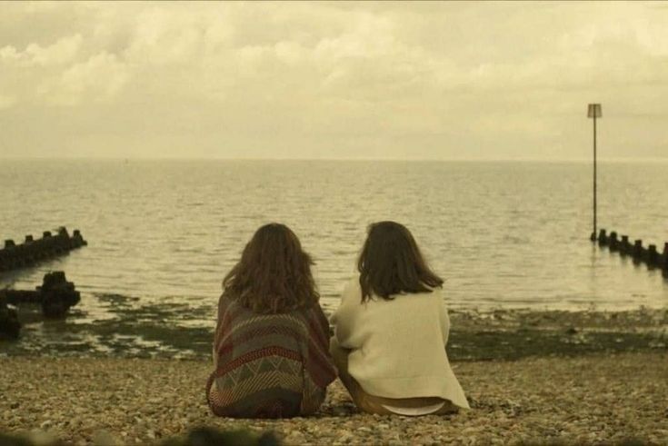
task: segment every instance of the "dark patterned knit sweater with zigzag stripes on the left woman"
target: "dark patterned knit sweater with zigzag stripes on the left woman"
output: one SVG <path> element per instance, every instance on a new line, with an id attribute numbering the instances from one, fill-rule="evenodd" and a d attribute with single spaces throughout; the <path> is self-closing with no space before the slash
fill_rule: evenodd
<path id="1" fill-rule="evenodd" d="M 336 378 L 320 305 L 259 314 L 221 296 L 206 396 L 214 414 L 288 418 L 317 411 Z"/>

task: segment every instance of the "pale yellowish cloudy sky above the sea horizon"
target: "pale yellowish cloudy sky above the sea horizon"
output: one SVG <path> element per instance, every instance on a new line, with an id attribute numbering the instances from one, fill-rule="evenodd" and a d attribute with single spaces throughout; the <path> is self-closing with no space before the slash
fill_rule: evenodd
<path id="1" fill-rule="evenodd" d="M 0 4 L 0 158 L 668 159 L 668 3 Z"/>

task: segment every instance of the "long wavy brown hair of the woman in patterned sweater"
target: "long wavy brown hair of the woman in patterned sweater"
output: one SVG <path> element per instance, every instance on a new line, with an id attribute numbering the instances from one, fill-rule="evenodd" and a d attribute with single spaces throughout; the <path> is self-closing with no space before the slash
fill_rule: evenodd
<path id="1" fill-rule="evenodd" d="M 320 299 L 311 274 L 313 264 L 290 228 L 281 223 L 265 224 L 225 276 L 223 296 L 260 313 L 311 307 Z"/>

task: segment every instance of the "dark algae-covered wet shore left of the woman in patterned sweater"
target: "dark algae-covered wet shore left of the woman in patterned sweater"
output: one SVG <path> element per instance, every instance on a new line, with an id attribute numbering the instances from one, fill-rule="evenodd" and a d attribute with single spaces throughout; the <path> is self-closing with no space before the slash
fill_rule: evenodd
<path id="1" fill-rule="evenodd" d="M 138 298 L 117 294 L 99 300 L 108 314 L 95 320 L 75 310 L 64 320 L 45 321 L 36 309 L 21 308 L 21 338 L 0 344 L 0 353 L 195 358 L 211 352 L 214 327 L 188 326 L 210 318 L 203 309 L 184 303 L 136 306 Z"/>

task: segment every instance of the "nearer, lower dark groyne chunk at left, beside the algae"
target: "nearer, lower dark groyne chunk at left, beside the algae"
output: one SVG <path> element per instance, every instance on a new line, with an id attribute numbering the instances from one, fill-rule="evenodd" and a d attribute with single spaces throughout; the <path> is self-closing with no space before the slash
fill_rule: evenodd
<path id="1" fill-rule="evenodd" d="M 81 293 L 65 273 L 46 273 L 41 286 L 32 290 L 0 290 L 0 339 L 15 339 L 21 330 L 17 312 L 8 305 L 39 305 L 45 318 L 63 318 L 69 309 L 81 301 Z"/>

